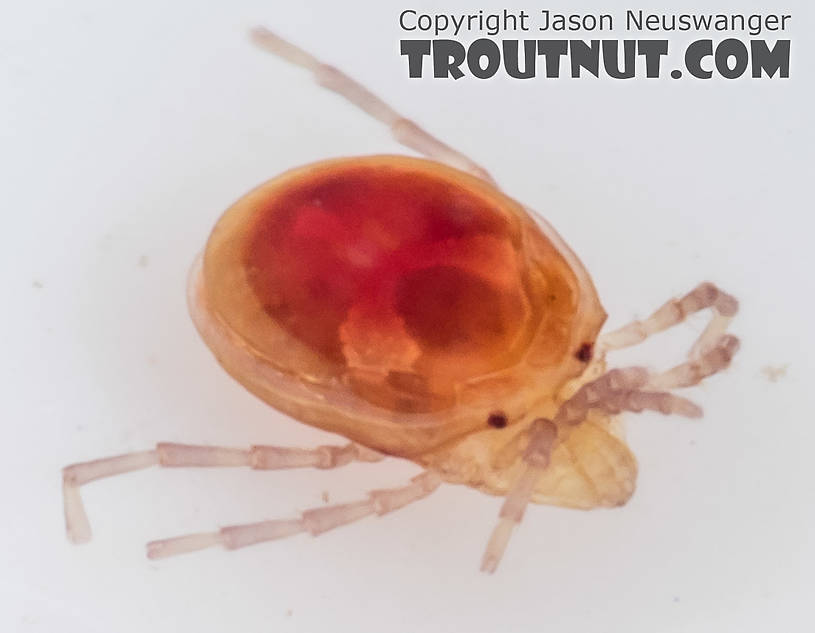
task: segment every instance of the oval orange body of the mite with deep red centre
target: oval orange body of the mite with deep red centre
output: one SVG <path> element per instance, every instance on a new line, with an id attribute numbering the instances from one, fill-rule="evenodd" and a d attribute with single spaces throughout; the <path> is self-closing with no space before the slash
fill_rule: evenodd
<path id="1" fill-rule="evenodd" d="M 574 256 L 520 204 L 399 156 L 262 185 L 218 222 L 198 274 L 193 316 L 233 376 L 406 457 L 551 400 L 585 370 L 578 352 L 605 317 Z"/>

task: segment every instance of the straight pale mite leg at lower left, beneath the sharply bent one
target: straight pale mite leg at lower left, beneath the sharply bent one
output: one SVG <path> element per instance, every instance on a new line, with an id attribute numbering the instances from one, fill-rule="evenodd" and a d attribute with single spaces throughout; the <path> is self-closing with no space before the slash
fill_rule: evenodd
<path id="1" fill-rule="evenodd" d="M 152 541 L 147 544 L 148 558 L 166 558 L 221 545 L 238 549 L 266 541 L 274 541 L 300 532 L 317 536 L 341 525 L 348 525 L 372 514 L 382 515 L 423 499 L 439 487 L 441 479 L 432 471 L 425 471 L 401 488 L 374 490 L 368 499 L 306 510 L 297 519 L 261 521 L 221 528 L 216 532 L 187 534 Z"/>

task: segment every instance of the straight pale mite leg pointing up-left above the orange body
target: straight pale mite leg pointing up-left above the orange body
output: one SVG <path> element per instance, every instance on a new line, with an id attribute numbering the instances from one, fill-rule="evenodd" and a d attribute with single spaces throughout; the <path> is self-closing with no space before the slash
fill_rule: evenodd
<path id="1" fill-rule="evenodd" d="M 351 79 L 342 71 L 322 63 L 310 53 L 278 37 L 268 29 L 257 27 L 251 31 L 252 40 L 264 50 L 286 61 L 302 66 L 314 74 L 324 88 L 336 92 L 364 110 L 367 114 L 388 126 L 393 137 L 402 145 L 439 162 L 469 172 L 478 178 L 495 184 L 489 173 L 470 158 L 442 143 L 413 121 L 406 119 L 367 88 Z"/>

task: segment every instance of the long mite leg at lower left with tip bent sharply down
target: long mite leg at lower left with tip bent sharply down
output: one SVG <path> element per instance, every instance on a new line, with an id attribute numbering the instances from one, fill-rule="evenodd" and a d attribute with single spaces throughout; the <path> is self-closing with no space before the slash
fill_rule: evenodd
<path id="1" fill-rule="evenodd" d="M 66 466 L 62 470 L 65 527 L 74 543 L 91 538 L 88 515 L 79 488 L 86 483 L 150 466 L 248 466 L 257 470 L 284 468 L 337 468 L 352 461 L 374 462 L 382 459 L 376 451 L 358 444 L 320 446 L 315 449 L 252 446 L 249 449 L 189 444 L 157 444 L 152 451 L 127 453 Z"/>

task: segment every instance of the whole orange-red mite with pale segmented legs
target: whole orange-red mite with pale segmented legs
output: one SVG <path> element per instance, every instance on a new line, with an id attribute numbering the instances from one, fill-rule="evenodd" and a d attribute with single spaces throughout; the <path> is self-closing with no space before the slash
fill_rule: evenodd
<path id="1" fill-rule="evenodd" d="M 637 465 L 617 414 L 699 417 L 674 390 L 726 368 L 738 303 L 711 283 L 600 333 L 591 278 L 549 224 L 490 175 L 336 68 L 265 29 L 254 41 L 387 125 L 424 158 L 367 156 L 286 172 L 235 203 L 193 266 L 192 319 L 218 362 L 274 408 L 343 446 L 160 443 L 63 471 L 70 540 L 90 539 L 83 484 L 150 466 L 338 468 L 385 456 L 403 487 L 300 517 L 153 541 L 160 558 L 313 535 L 463 484 L 505 501 L 481 568 L 496 569 L 529 502 L 624 504 Z M 608 370 L 608 352 L 708 310 L 686 359 Z"/>

